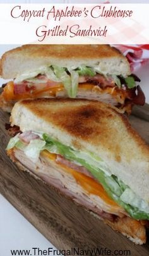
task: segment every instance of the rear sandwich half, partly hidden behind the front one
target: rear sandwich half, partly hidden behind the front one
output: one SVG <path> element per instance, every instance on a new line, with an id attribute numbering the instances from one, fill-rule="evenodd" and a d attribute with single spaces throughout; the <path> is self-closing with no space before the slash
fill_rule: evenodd
<path id="1" fill-rule="evenodd" d="M 10 112 L 20 99 L 86 98 L 121 112 L 143 105 L 145 96 L 128 60 L 109 45 L 25 45 L 3 54 L 0 106 Z"/>

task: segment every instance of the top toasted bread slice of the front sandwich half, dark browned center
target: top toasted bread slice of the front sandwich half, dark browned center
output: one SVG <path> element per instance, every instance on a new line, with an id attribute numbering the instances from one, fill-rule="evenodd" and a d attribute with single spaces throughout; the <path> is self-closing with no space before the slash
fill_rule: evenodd
<path id="1" fill-rule="evenodd" d="M 20 101 L 10 120 L 23 132 L 46 132 L 76 150 L 95 153 L 112 174 L 149 202 L 149 147 L 109 105 L 85 99 Z"/>

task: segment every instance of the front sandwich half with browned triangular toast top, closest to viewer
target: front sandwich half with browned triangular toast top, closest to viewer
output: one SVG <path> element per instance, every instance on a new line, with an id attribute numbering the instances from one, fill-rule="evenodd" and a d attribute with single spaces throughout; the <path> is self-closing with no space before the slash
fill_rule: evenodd
<path id="1" fill-rule="evenodd" d="M 149 148 L 126 117 L 98 101 L 35 99 L 16 103 L 10 121 L 13 162 L 145 243 Z"/>

